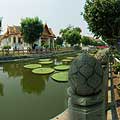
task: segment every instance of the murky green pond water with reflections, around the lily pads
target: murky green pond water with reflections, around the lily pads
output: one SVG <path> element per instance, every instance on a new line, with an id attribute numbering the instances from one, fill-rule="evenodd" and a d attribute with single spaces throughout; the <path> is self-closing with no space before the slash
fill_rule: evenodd
<path id="1" fill-rule="evenodd" d="M 49 120 L 67 108 L 68 83 L 33 74 L 29 63 L 38 61 L 0 64 L 0 120 Z"/>

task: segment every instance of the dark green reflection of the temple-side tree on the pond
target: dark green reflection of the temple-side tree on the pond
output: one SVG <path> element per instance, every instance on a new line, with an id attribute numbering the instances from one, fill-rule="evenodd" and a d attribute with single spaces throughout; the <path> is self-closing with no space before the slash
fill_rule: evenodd
<path id="1" fill-rule="evenodd" d="M 29 69 L 23 70 L 23 79 L 21 80 L 21 86 L 24 92 L 28 94 L 41 94 L 45 89 L 46 80 L 49 76 L 35 75 Z"/>

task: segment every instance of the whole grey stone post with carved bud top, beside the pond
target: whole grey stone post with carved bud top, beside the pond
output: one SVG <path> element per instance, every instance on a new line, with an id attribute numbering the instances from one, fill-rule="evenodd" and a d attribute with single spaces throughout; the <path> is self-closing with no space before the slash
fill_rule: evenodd
<path id="1" fill-rule="evenodd" d="M 69 71 L 69 120 L 105 120 L 101 63 L 83 53 Z"/>

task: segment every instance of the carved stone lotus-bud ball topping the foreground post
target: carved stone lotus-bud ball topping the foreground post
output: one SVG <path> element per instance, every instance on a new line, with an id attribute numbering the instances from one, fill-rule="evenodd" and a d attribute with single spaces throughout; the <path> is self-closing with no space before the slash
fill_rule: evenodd
<path id="1" fill-rule="evenodd" d="M 77 95 L 93 95 L 102 90 L 101 63 L 87 53 L 82 53 L 71 64 L 68 74 L 72 91 Z"/>

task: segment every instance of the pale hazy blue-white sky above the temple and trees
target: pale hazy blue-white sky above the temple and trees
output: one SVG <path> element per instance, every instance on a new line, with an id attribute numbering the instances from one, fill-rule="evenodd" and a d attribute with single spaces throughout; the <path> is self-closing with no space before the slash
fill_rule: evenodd
<path id="1" fill-rule="evenodd" d="M 8 25 L 20 25 L 21 18 L 38 16 L 56 36 L 68 25 L 80 27 L 82 35 L 91 35 L 80 15 L 84 4 L 85 0 L 1 0 L 3 32 Z"/>

